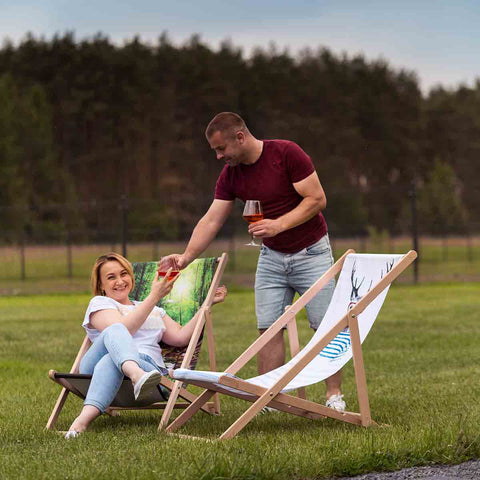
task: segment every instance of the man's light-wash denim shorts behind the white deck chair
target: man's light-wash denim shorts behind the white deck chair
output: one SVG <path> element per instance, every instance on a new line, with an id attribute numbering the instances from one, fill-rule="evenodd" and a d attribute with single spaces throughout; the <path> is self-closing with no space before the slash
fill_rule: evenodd
<path id="1" fill-rule="evenodd" d="M 255 311 L 259 329 L 266 329 L 291 305 L 295 292 L 302 295 L 333 265 L 328 234 L 295 253 L 262 246 L 255 276 Z M 306 305 L 308 322 L 318 328 L 335 289 L 331 280 Z"/>

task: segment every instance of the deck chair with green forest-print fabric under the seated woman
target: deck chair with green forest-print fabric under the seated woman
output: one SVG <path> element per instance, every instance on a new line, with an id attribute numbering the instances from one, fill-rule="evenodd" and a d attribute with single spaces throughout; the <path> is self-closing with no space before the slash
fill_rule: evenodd
<path id="1" fill-rule="evenodd" d="M 182 270 L 182 274 L 176 281 L 169 298 L 163 298 L 159 302 L 158 305 L 164 308 L 181 325 L 188 323 L 195 314 L 201 317 L 187 347 L 172 347 L 161 343 L 162 354 L 168 368 L 195 368 L 205 330 L 208 343 L 209 367 L 212 370 L 216 369 L 211 306 L 215 291 L 225 270 L 227 258 L 227 254 L 223 253 L 219 258 L 195 260 Z M 135 288 L 130 294 L 132 300 L 143 300 L 148 295 L 156 270 L 156 262 L 133 264 Z M 70 392 L 85 399 L 92 376 L 79 374 L 78 369 L 80 361 L 88 350 L 90 343 L 88 337 L 85 336 L 70 373 L 59 373 L 55 370 L 50 370 L 50 379 L 60 384 L 63 388 L 48 419 L 47 429 L 52 429 L 56 424 Z M 180 381 L 172 382 L 168 378 L 163 377 L 161 385 L 164 388 L 159 387 L 145 401 L 138 402 L 133 395 L 132 382 L 129 378 L 124 378 L 120 390 L 106 413 L 115 415 L 118 410 L 163 409 L 159 429 L 164 428 L 168 424 L 173 409 L 186 408 L 195 400 L 196 396 L 186 390 Z M 179 397 L 184 401 L 178 401 Z M 205 407 L 203 410 L 208 413 L 220 413 L 218 396 L 202 405 L 202 407 Z"/>

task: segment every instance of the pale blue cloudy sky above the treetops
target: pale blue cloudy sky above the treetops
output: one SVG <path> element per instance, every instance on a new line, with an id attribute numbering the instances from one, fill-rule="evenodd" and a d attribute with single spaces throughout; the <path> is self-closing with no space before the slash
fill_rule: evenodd
<path id="1" fill-rule="evenodd" d="M 193 34 L 248 56 L 273 42 L 291 55 L 309 47 L 383 59 L 414 71 L 427 93 L 480 79 L 480 0 L 0 0 L 0 39 L 98 32 L 122 44 L 162 32 L 181 45 Z"/>

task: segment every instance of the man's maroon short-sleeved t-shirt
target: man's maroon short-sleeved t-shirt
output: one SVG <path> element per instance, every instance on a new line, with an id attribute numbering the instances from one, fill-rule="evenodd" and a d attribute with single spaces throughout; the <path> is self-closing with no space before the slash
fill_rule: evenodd
<path id="1" fill-rule="evenodd" d="M 303 199 L 294 183 L 315 171 L 311 158 L 288 140 L 263 140 L 260 158 L 252 165 L 225 165 L 217 180 L 218 200 L 260 200 L 265 218 L 275 219 L 293 210 Z M 273 250 L 293 253 L 317 242 L 327 232 L 321 213 L 301 225 L 264 238 Z"/>

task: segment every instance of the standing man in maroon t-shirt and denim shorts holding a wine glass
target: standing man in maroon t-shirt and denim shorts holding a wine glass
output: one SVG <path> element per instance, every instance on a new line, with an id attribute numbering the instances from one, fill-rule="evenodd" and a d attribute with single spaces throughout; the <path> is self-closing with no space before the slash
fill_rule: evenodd
<path id="1" fill-rule="evenodd" d="M 288 140 L 258 140 L 243 119 L 231 112 L 216 115 L 205 131 L 224 166 L 215 198 L 197 223 L 183 254 L 164 257 L 159 265 L 184 268 L 215 238 L 232 211 L 235 198 L 260 200 L 264 220 L 248 231 L 263 240 L 255 277 L 255 307 L 260 335 L 333 263 L 327 225 L 320 213 L 327 204 L 310 157 Z M 334 289 L 330 282 L 306 307 L 316 330 Z M 260 374 L 285 363 L 283 331 L 258 355 Z M 326 380 L 327 406 L 345 410 L 341 372 Z"/>

